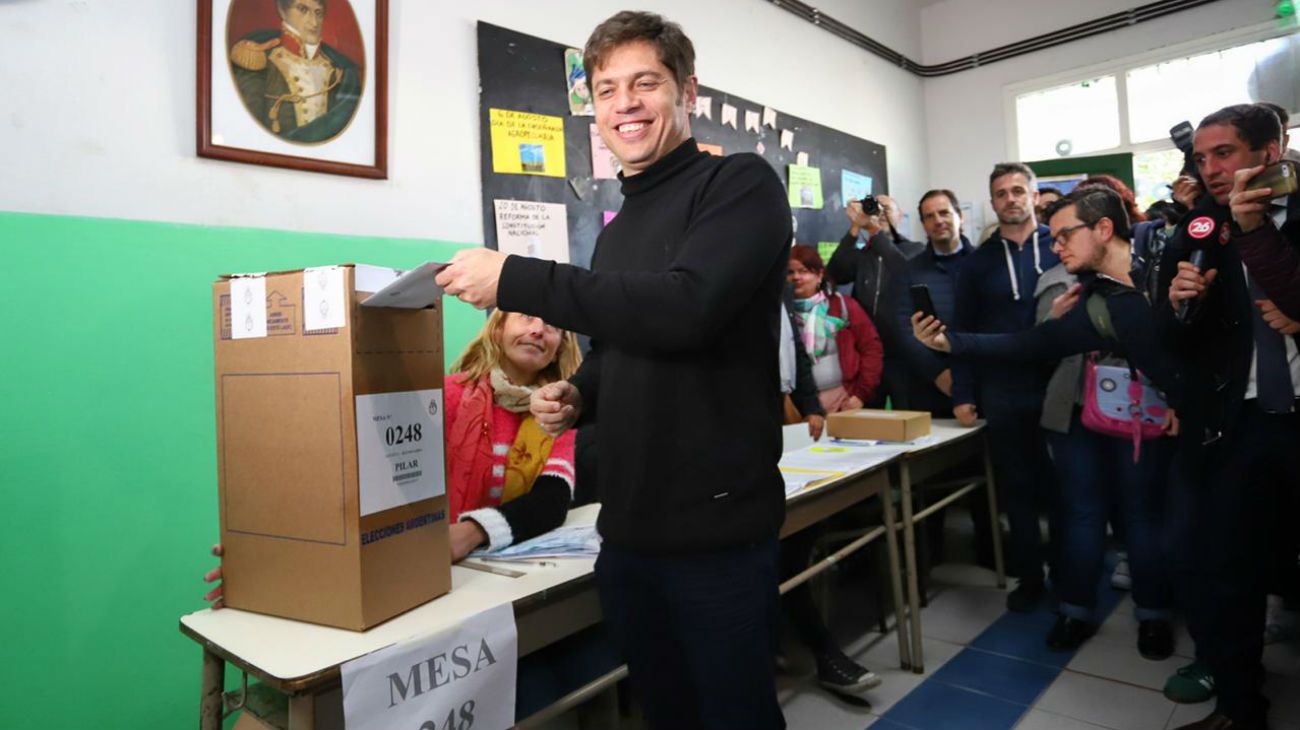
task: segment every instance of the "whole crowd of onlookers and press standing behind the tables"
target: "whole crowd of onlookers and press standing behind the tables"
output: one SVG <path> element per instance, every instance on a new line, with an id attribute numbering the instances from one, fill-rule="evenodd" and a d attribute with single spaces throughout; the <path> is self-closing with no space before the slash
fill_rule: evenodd
<path id="1" fill-rule="evenodd" d="M 1262 727 L 1262 646 L 1297 636 L 1300 220 L 1295 195 L 1251 186 L 1288 153 L 1287 122 L 1273 104 L 1205 117 L 1173 199 L 1147 210 L 1113 175 L 1062 194 L 1009 162 L 989 175 L 997 226 L 978 245 L 957 195 L 931 190 L 924 244 L 880 196 L 848 204 L 826 266 L 790 253 L 786 357 L 811 368 L 788 370 L 811 386 L 783 383 L 786 422 L 818 438 L 827 412 L 887 399 L 983 418 L 1018 578 L 1008 609 L 1052 600 L 1044 640 L 1076 649 L 1104 618 L 1109 542 L 1138 652 L 1170 657 L 1175 617 L 1188 623 L 1196 660 L 1165 694 L 1218 698 L 1199 729 Z M 916 287 L 933 310 L 916 310 Z M 797 397 L 814 387 L 819 400 Z M 1000 538 L 976 539 L 991 564 Z"/>

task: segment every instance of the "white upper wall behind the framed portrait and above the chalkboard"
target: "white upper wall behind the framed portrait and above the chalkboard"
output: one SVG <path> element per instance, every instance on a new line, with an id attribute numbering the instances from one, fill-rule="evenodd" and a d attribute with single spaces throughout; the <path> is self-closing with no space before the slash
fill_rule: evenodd
<path id="1" fill-rule="evenodd" d="M 391 1 L 389 179 L 365 181 L 195 156 L 195 6 L 0 3 L 0 210 L 481 242 L 476 21 L 581 44 L 619 9 Z M 924 190 L 920 79 L 759 0 L 636 6 L 685 27 L 702 83 L 881 143 L 890 188 Z M 822 8 L 920 48 L 907 0 Z"/>

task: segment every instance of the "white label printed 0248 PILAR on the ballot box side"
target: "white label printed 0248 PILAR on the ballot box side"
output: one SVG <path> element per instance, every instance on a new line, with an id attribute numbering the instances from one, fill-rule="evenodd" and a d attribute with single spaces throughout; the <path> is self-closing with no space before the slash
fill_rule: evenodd
<path id="1" fill-rule="evenodd" d="M 446 494 L 442 391 L 356 396 L 361 516 Z"/>

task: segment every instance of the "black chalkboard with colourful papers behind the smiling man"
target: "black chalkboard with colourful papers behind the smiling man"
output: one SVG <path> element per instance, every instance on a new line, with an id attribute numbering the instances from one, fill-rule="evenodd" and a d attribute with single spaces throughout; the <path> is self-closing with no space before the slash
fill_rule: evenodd
<path id="1" fill-rule="evenodd" d="M 564 75 L 566 45 L 517 31 L 478 23 L 478 87 L 482 166 L 484 236 L 489 248 L 497 248 L 494 200 L 529 200 L 563 203 L 567 207 L 569 261 L 586 266 L 592 261 L 595 238 L 604 226 L 603 213 L 623 207 L 623 194 L 616 179 L 592 178 L 590 125 L 594 117 L 571 116 Z M 693 117 L 692 132 L 701 144 L 716 144 L 725 153 L 758 152 L 772 164 L 783 181 L 786 166 L 800 152 L 807 152 L 809 165 L 820 169 L 823 208 L 794 209 L 794 239 L 816 245 L 837 242 L 848 230 L 844 201 L 840 199 L 841 171 L 850 170 L 872 179 L 872 192 L 889 192 L 885 148 L 807 120 L 776 113 L 776 129 L 760 126 L 758 132 L 745 130 L 745 112 L 759 113 L 763 105 L 706 86 L 699 95 L 712 99 L 712 118 Z M 737 109 L 736 127 L 723 126 L 722 108 Z M 533 174 L 498 174 L 493 171 L 490 109 L 528 112 L 563 117 L 566 177 Z M 793 148 L 780 144 L 781 131 L 793 132 Z"/>

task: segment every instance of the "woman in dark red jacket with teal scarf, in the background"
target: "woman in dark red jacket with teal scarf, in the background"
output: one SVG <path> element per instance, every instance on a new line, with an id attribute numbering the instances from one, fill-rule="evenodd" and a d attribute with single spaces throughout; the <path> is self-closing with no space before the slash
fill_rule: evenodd
<path id="1" fill-rule="evenodd" d="M 827 413 L 853 410 L 880 387 L 884 348 L 871 318 L 853 299 L 836 294 L 811 245 L 790 248 L 794 317 L 812 359 L 812 379 Z"/>

